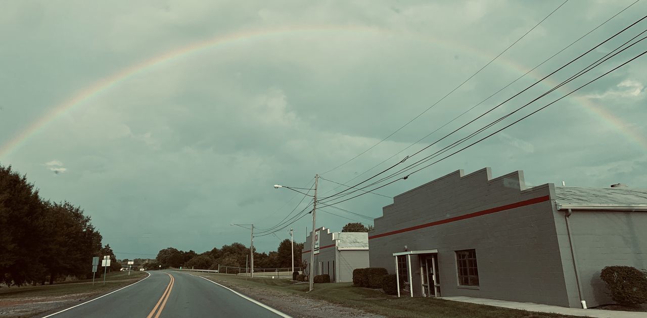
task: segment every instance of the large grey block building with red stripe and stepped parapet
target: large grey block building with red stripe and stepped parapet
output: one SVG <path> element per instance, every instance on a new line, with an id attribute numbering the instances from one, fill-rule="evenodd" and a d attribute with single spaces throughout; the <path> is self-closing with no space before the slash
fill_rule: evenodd
<path id="1" fill-rule="evenodd" d="M 400 295 L 468 296 L 571 308 L 613 303 L 605 266 L 647 268 L 647 190 L 527 187 L 490 168 L 393 198 L 369 233 L 371 267 Z"/>

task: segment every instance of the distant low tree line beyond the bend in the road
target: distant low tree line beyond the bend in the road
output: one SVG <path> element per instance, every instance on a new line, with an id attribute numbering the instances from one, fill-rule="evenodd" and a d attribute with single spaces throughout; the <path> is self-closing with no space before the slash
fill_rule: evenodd
<path id="1" fill-rule="evenodd" d="M 294 242 L 294 267 L 303 267 L 301 252 L 303 243 Z M 157 254 L 155 263 L 144 264 L 147 269 L 184 267 L 194 269 L 218 269 L 218 266 L 246 267 L 249 247 L 241 243 L 214 247 L 211 251 L 197 254 L 194 251 L 179 251 L 173 247 L 162 249 Z M 160 267 L 161 266 L 161 267 Z M 258 253 L 254 251 L 254 268 L 287 268 L 292 267 L 291 242 L 281 241 L 276 251 Z"/>

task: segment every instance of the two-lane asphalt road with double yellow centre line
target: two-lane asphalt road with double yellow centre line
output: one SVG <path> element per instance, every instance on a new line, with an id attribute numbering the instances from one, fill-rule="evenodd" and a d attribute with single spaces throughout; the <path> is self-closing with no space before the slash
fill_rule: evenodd
<path id="1" fill-rule="evenodd" d="M 189 273 L 148 273 L 127 288 L 45 317 L 288 317 Z"/>

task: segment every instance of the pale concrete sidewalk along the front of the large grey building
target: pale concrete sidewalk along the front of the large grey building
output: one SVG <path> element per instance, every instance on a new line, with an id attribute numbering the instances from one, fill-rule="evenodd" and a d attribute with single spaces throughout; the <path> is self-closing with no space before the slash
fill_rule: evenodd
<path id="1" fill-rule="evenodd" d="M 498 301 L 495 299 L 463 297 L 463 296 L 439 297 L 439 298 L 446 299 L 448 301 L 472 302 L 472 304 L 482 304 L 482 305 L 488 305 L 488 306 L 527 310 L 529 312 L 560 313 L 562 315 L 573 315 L 573 316 L 582 316 L 582 317 L 598 317 L 598 318 L 646 318 L 647 317 L 647 312 L 617 312 L 614 310 L 565 308 L 560 306 L 534 304 L 532 302 Z"/>

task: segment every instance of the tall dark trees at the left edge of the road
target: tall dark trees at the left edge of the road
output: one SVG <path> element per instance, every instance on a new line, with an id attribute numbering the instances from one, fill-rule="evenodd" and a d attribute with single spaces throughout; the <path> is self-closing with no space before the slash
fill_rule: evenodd
<path id="1" fill-rule="evenodd" d="M 91 277 L 93 256 L 110 255 L 111 269 L 120 268 L 81 207 L 45 200 L 38 192 L 27 176 L 0 165 L 0 283 Z"/>

